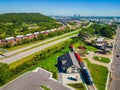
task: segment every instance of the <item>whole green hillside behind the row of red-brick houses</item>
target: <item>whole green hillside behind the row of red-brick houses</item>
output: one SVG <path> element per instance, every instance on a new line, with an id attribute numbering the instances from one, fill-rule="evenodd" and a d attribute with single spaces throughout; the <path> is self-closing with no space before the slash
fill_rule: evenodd
<path id="1" fill-rule="evenodd" d="M 0 39 L 60 27 L 56 20 L 40 13 L 0 14 Z"/>

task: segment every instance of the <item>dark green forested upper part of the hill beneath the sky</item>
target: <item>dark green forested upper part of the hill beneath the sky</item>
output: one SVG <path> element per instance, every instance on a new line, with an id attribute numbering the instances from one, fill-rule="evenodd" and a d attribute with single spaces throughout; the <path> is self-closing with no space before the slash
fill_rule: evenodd
<path id="1" fill-rule="evenodd" d="M 8 23 L 39 23 L 39 22 L 56 22 L 56 20 L 44 16 L 40 13 L 7 13 L 0 15 L 0 22 Z"/>

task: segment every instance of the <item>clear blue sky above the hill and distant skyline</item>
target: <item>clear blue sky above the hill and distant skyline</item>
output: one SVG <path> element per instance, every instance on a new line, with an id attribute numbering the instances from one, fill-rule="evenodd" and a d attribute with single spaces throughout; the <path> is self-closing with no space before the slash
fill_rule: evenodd
<path id="1" fill-rule="evenodd" d="M 61 16 L 120 16 L 120 0 L 0 0 L 0 14 L 19 12 Z"/>

